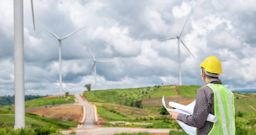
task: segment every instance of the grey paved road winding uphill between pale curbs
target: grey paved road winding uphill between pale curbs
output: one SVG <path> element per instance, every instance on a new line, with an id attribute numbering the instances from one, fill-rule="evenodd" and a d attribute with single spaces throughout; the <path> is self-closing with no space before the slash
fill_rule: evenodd
<path id="1" fill-rule="evenodd" d="M 88 129 L 88 128 L 94 128 L 95 124 L 95 117 L 94 117 L 94 107 L 92 104 L 86 103 L 83 101 L 83 99 L 80 97 L 80 95 L 75 94 L 74 95 L 78 101 L 79 104 L 82 104 L 85 107 L 85 122 L 81 129 Z"/>

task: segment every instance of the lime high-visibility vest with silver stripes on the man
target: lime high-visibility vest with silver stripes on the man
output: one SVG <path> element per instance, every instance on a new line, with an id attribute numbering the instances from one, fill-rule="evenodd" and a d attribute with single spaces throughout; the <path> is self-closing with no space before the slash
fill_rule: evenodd
<path id="1" fill-rule="evenodd" d="M 213 124 L 213 127 L 208 134 L 235 134 L 235 108 L 233 93 L 220 84 L 208 84 L 206 86 L 211 88 L 214 92 L 214 115 L 217 117 L 217 122 Z"/>

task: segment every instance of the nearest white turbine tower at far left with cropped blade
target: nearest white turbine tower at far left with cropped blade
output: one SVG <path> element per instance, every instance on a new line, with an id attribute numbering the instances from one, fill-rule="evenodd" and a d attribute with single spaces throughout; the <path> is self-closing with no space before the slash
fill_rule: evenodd
<path id="1" fill-rule="evenodd" d="M 31 0 L 33 25 L 35 19 L 33 0 Z M 25 128 L 25 93 L 24 93 L 24 25 L 23 25 L 23 0 L 13 2 L 14 13 L 14 52 L 19 55 L 14 58 L 14 95 L 15 95 L 15 129 Z"/>

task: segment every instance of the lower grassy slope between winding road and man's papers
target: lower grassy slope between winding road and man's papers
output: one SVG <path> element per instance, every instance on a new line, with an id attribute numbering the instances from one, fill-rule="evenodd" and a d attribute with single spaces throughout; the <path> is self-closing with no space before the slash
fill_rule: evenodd
<path id="1" fill-rule="evenodd" d="M 169 115 L 160 115 L 159 111 L 140 109 L 112 103 L 92 102 L 98 108 L 98 114 L 106 121 L 102 124 L 107 127 L 142 127 L 142 128 L 180 128 L 172 121 Z M 125 121 L 131 125 L 110 124 L 113 121 Z"/>

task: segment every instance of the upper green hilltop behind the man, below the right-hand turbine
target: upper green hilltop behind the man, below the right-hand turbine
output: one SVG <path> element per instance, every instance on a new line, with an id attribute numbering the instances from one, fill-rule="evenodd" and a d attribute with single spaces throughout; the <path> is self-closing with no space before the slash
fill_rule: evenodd
<path id="1" fill-rule="evenodd" d="M 177 92 L 175 88 L 177 87 Z M 144 88 L 128 88 L 128 89 L 109 89 L 97 90 L 84 93 L 83 96 L 88 101 L 115 103 L 130 106 L 135 100 L 143 100 L 143 106 L 162 107 L 162 97 L 165 96 L 167 101 L 181 102 L 193 100 L 196 97 L 197 89 L 201 86 L 197 85 L 164 85 Z M 252 113 L 256 110 L 256 95 L 250 93 L 234 93 L 235 111 Z M 238 98 L 237 98 L 238 97 Z"/>

